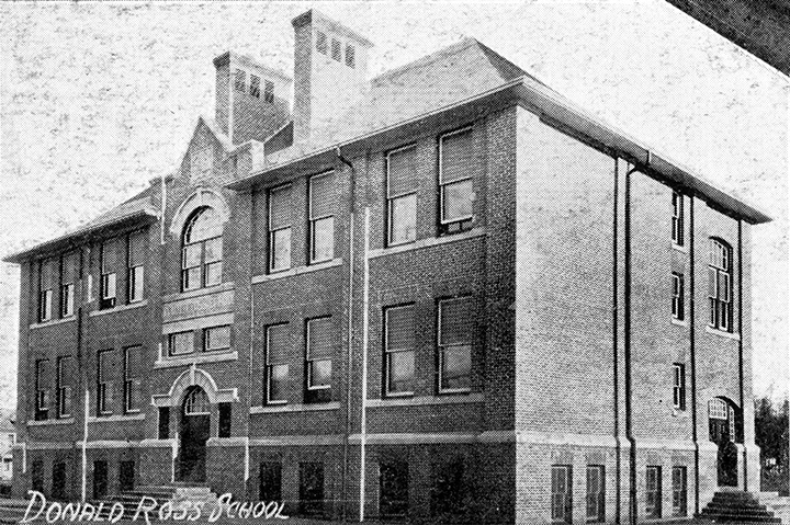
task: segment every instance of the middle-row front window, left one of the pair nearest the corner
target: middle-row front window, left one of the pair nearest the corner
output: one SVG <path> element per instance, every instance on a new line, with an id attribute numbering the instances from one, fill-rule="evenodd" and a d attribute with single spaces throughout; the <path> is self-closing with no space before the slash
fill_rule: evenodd
<path id="1" fill-rule="evenodd" d="M 414 305 L 384 310 L 384 395 L 414 393 Z"/>

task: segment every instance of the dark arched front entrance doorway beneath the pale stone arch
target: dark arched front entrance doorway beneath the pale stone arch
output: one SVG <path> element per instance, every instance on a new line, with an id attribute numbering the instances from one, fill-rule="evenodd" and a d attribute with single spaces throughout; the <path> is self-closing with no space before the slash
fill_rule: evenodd
<path id="1" fill-rule="evenodd" d="M 211 429 L 211 402 L 199 386 L 187 389 L 181 403 L 178 481 L 205 481 L 205 446 Z"/>

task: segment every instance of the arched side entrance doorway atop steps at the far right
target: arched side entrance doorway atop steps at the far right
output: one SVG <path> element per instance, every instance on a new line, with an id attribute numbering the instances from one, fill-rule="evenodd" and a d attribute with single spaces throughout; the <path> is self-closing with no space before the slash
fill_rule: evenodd
<path id="1" fill-rule="evenodd" d="M 710 441 L 719 446 L 716 472 L 720 487 L 737 487 L 737 446 L 740 410 L 724 398 L 708 401 Z"/>

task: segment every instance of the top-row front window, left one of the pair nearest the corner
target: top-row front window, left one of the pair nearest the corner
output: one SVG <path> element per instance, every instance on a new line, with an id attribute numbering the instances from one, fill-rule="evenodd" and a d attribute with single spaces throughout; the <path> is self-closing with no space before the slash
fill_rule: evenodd
<path id="1" fill-rule="evenodd" d="M 417 148 L 387 153 L 387 244 L 417 239 Z"/>

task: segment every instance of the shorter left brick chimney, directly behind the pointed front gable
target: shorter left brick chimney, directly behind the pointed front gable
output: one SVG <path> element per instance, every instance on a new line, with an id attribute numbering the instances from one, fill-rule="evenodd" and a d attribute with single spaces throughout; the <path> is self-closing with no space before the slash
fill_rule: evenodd
<path id="1" fill-rule="evenodd" d="M 227 52 L 214 59 L 215 119 L 233 144 L 263 141 L 291 117 L 291 79 L 246 55 Z"/>

